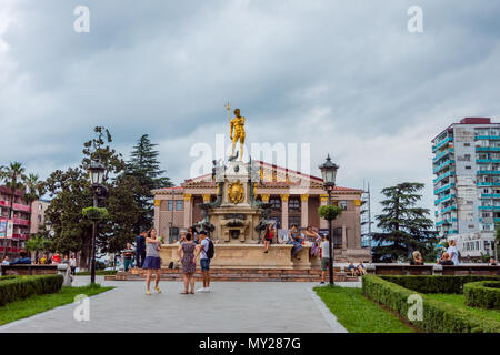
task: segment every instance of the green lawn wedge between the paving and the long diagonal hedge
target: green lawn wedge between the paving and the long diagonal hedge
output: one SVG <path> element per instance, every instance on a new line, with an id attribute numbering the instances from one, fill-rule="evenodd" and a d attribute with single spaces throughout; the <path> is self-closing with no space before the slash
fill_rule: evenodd
<path id="1" fill-rule="evenodd" d="M 398 316 L 363 296 L 361 288 L 314 287 L 349 333 L 414 333 Z"/>

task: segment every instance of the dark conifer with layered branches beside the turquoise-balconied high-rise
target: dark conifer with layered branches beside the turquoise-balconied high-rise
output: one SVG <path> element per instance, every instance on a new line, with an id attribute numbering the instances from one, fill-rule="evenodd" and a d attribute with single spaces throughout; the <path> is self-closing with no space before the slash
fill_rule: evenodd
<path id="1" fill-rule="evenodd" d="M 382 190 L 386 196 L 381 202 L 383 213 L 376 216 L 382 232 L 373 233 L 377 243 L 372 248 L 374 262 L 409 260 L 413 251 L 420 251 L 424 260 L 436 256 L 437 232 L 428 217 L 429 210 L 416 206 L 422 197 L 418 192 L 423 186 L 403 182 Z"/>

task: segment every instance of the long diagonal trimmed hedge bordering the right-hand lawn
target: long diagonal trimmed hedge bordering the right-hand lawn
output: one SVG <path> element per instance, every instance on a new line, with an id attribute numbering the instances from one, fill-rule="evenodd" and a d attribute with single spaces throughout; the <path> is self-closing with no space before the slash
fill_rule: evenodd
<path id="1" fill-rule="evenodd" d="M 410 276 L 408 276 L 410 277 Z M 364 275 L 363 294 L 397 312 L 408 320 L 408 311 L 413 303 L 408 297 L 416 292 L 378 276 Z M 449 303 L 430 300 L 423 294 L 422 321 L 412 321 L 416 327 L 428 333 L 500 333 L 500 322 L 458 308 Z"/>

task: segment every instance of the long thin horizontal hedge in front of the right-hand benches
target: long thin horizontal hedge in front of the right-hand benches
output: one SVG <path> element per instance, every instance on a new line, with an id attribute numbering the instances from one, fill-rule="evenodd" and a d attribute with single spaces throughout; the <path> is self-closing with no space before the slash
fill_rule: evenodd
<path id="1" fill-rule="evenodd" d="M 491 275 L 380 275 L 379 277 L 420 293 L 463 293 L 463 285 L 477 281 L 500 281 Z"/>

